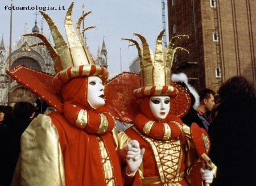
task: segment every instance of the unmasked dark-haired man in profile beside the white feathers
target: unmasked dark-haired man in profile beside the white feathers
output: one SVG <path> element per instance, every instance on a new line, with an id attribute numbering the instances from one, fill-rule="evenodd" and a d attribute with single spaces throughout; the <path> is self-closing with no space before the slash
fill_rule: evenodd
<path id="1" fill-rule="evenodd" d="M 196 108 L 197 116 L 202 121 L 201 123 L 198 123 L 201 128 L 204 128 L 208 131 L 209 128 L 209 120 L 206 116 L 207 112 L 212 111 L 215 103 L 214 103 L 214 95 L 216 93 L 209 89 L 209 88 L 203 88 L 199 91 L 199 98 L 200 98 L 200 104 Z"/>

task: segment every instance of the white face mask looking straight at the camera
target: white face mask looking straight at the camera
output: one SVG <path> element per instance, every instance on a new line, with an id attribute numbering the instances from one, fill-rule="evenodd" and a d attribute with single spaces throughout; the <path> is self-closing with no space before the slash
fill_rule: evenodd
<path id="1" fill-rule="evenodd" d="M 150 109 L 158 120 L 166 118 L 170 111 L 170 97 L 169 96 L 151 96 Z"/>

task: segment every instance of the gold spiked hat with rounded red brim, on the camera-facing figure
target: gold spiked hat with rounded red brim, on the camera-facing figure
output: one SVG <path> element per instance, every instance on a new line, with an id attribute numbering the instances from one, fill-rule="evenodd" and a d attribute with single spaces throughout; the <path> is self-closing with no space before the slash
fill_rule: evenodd
<path id="1" fill-rule="evenodd" d="M 191 105 L 191 98 L 188 92 L 179 84 L 171 82 L 171 67 L 174 54 L 177 49 L 188 50 L 177 47 L 174 44 L 176 39 L 188 37 L 179 35 L 172 37 L 167 49 L 163 49 L 162 37 L 165 30 L 160 32 L 156 39 L 155 56 L 147 44 L 147 40 L 140 34 L 134 33 L 142 41 L 142 46 L 133 39 L 123 39 L 131 41 L 138 49 L 140 63 L 140 87 L 133 91 L 133 95 L 141 99 L 143 96 L 167 95 L 171 98 L 171 113 L 182 117 L 188 112 Z"/>

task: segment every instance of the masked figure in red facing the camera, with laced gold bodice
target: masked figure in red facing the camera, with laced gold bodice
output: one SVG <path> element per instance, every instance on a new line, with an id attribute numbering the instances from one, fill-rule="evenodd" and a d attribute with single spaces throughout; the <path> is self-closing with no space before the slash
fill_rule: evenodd
<path id="1" fill-rule="evenodd" d="M 141 66 L 141 87 L 134 90 L 136 98 L 141 99 L 141 113 L 135 117 L 134 126 L 125 133 L 138 140 L 145 149 L 143 159 L 142 185 L 203 185 L 212 183 L 213 171 L 204 170 L 201 164 L 198 167 L 196 150 L 190 137 L 190 128 L 184 125 L 179 117 L 170 113 L 174 106 L 182 109 L 189 108 L 187 100 L 179 94 L 187 94 L 184 90 L 177 89 L 177 84 L 171 82 L 171 66 L 176 49 L 173 41 L 182 38 L 177 36 L 171 39 L 167 50 L 162 48 L 162 36 L 160 32 L 156 41 L 155 58 L 147 44 L 146 39 L 137 33 L 142 41 L 139 46 L 133 39 L 125 39 L 133 42 L 138 49 Z M 176 98 L 177 97 L 177 98 Z M 180 105 L 172 105 L 172 99 L 180 99 Z M 185 111 L 181 111 L 185 112 Z M 195 184 L 195 176 L 199 177 L 200 184 Z M 197 179 L 198 180 L 198 179 Z M 198 183 L 198 182 L 197 182 Z"/>

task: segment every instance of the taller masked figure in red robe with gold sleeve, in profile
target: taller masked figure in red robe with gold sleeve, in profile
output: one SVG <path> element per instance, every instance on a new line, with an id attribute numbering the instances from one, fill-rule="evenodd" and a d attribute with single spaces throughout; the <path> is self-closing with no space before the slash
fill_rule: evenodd
<path id="1" fill-rule="evenodd" d="M 80 23 L 89 12 L 77 22 L 78 39 L 72 8 L 73 3 L 64 22 L 69 45 L 44 12 L 41 14 L 49 24 L 55 47 L 40 33 L 28 34 L 47 45 L 55 61 L 55 77 L 22 66 L 8 71 L 23 86 L 38 88 L 34 92 L 57 110 L 36 117 L 23 133 L 12 184 L 138 185 L 143 150 L 137 141 L 115 130 L 115 119 L 104 106 L 102 83 L 108 71 L 94 64 L 80 32 Z M 36 75 L 41 82 L 36 82 Z"/>

